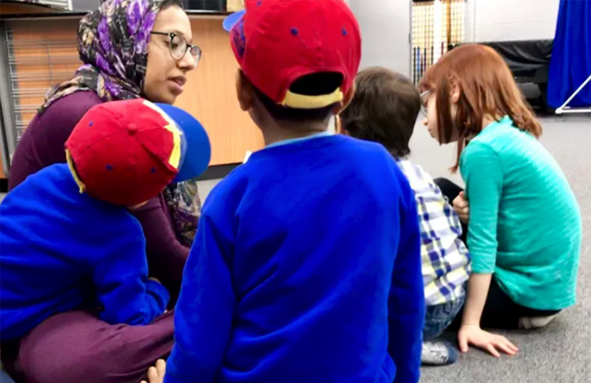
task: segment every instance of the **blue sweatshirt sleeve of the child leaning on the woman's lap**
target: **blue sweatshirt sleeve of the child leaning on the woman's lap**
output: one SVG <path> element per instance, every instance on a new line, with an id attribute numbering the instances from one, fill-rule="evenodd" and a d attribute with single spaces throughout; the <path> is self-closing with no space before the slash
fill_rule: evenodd
<path id="1" fill-rule="evenodd" d="M 129 239 L 117 247 L 118 251 L 100 259 L 93 269 L 102 306 L 99 318 L 111 324 L 151 323 L 164 313 L 168 291 L 157 281 L 148 280 L 142 241 Z"/>

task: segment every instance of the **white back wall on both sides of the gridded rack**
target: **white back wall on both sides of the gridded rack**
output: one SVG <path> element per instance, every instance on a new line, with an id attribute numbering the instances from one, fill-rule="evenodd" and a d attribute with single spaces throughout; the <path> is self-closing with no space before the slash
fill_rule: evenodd
<path id="1" fill-rule="evenodd" d="M 348 0 L 363 38 L 361 67 L 410 76 L 411 0 Z M 560 0 L 467 0 L 468 41 L 554 38 Z"/>

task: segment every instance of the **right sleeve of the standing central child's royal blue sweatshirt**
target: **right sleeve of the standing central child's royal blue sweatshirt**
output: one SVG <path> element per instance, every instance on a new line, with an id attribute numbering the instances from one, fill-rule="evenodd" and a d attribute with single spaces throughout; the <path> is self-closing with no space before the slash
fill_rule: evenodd
<path id="1" fill-rule="evenodd" d="M 388 300 L 388 352 L 397 366 L 394 383 L 420 379 L 425 295 L 421 272 L 421 237 L 417 205 L 408 187 L 401 211 L 400 244 Z"/>

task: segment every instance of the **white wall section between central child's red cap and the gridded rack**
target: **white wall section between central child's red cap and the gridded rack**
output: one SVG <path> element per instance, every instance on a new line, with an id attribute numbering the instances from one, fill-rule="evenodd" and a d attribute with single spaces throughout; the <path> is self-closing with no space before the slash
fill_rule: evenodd
<path id="1" fill-rule="evenodd" d="M 363 38 L 361 67 L 384 66 L 410 76 L 411 0 L 349 0 Z"/>

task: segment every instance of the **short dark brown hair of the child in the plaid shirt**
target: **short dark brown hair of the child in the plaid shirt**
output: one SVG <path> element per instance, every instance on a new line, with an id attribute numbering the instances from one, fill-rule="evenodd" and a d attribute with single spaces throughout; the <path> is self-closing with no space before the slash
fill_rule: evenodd
<path id="1" fill-rule="evenodd" d="M 340 113 L 342 129 L 351 137 L 379 142 L 397 158 L 410 154 L 421 96 L 413 83 L 396 72 L 372 67 L 359 72 L 355 96 Z"/>

